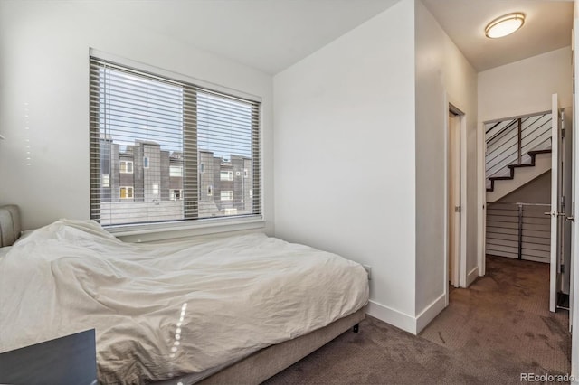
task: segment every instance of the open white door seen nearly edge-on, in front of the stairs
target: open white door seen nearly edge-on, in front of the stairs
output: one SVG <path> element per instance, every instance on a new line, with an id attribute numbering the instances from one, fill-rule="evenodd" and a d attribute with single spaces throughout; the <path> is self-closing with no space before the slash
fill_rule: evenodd
<path id="1" fill-rule="evenodd" d="M 561 268 L 561 237 L 563 234 L 560 215 L 560 189 L 559 184 L 559 101 L 557 94 L 552 97 L 551 112 L 551 250 L 550 250 L 550 293 L 549 310 L 555 312 L 557 305 L 557 292 L 560 287 Z M 565 213 L 561 213 L 565 215 Z"/>

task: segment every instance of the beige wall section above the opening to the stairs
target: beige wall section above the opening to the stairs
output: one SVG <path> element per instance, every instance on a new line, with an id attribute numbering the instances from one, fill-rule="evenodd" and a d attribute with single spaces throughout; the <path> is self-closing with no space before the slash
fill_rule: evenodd
<path id="1" fill-rule="evenodd" d="M 479 72 L 479 122 L 572 105 L 571 47 Z"/>

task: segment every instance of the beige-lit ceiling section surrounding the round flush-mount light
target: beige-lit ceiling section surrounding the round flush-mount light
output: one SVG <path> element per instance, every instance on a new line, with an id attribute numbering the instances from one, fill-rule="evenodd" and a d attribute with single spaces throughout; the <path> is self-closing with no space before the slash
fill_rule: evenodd
<path id="1" fill-rule="evenodd" d="M 422 0 L 477 71 L 571 45 L 573 2 L 550 0 Z M 525 25 L 500 39 L 485 37 L 498 16 L 522 12 Z"/>

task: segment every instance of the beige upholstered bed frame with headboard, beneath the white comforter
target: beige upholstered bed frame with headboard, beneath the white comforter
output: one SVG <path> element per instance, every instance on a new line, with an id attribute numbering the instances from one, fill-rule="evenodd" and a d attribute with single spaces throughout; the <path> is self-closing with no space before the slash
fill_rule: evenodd
<path id="1" fill-rule="evenodd" d="M 12 246 L 22 231 L 20 211 L 15 205 L 0 207 L 0 247 Z M 353 329 L 357 332 L 358 324 L 365 318 L 365 308 L 352 315 L 346 315 L 332 324 L 328 324 L 311 333 L 293 340 L 271 345 L 254 352 L 241 361 L 215 368 L 196 376 L 200 384 L 243 383 L 259 384 L 276 373 L 283 371 L 295 362 L 299 362 L 309 353 L 318 350 L 338 335 Z M 187 376 L 184 377 L 187 382 Z M 201 380 L 200 380 L 201 379 Z M 166 381 L 160 381 L 166 383 Z"/>

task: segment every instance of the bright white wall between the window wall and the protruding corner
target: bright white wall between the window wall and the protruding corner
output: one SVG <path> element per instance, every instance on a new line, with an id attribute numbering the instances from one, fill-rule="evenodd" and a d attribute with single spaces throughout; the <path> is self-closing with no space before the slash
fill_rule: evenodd
<path id="1" fill-rule="evenodd" d="M 276 236 L 372 267 L 370 314 L 414 315 L 413 0 L 274 77 Z"/>

